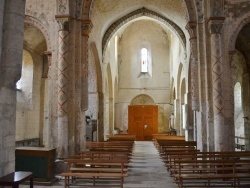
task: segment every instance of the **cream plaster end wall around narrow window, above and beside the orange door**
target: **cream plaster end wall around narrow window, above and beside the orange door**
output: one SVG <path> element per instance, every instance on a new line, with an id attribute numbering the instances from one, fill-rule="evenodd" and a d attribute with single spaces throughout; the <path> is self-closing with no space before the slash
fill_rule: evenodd
<path id="1" fill-rule="evenodd" d="M 148 28 L 151 28 L 148 30 Z M 170 32 L 153 21 L 139 20 L 123 32 L 119 41 L 118 99 L 116 127 L 126 131 L 128 105 L 134 97 L 146 94 L 159 105 L 159 132 L 167 131 L 170 105 Z M 140 73 L 140 49 L 147 47 L 152 74 Z M 169 115 L 168 115 L 169 113 Z"/>

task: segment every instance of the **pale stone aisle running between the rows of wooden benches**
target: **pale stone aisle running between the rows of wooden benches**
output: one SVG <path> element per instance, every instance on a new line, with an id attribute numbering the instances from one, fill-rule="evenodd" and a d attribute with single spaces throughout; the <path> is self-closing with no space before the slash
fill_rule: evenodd
<path id="1" fill-rule="evenodd" d="M 135 142 L 124 188 L 177 188 L 153 142 Z"/>

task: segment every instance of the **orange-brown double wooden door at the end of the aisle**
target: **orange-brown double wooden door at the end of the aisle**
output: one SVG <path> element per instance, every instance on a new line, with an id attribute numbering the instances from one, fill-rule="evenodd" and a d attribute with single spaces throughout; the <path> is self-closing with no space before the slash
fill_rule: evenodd
<path id="1" fill-rule="evenodd" d="M 128 133 L 136 135 L 136 140 L 152 140 L 158 133 L 158 106 L 130 105 L 128 107 Z"/>

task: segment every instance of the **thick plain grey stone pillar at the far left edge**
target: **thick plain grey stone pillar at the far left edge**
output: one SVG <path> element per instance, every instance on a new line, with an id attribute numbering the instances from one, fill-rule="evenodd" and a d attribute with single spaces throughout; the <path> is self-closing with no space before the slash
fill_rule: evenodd
<path id="1" fill-rule="evenodd" d="M 25 0 L 0 3 L 0 176 L 15 171 L 15 89 L 22 70 L 24 12 Z"/>

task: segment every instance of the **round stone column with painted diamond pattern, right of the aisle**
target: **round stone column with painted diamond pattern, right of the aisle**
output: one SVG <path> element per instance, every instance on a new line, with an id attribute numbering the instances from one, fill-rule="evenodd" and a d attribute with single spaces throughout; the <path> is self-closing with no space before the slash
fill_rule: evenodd
<path id="1" fill-rule="evenodd" d="M 222 52 L 221 31 L 224 19 L 216 18 L 209 20 L 209 31 L 211 41 L 211 66 L 212 66 L 212 85 L 213 85 L 213 112 L 214 112 L 214 149 L 215 151 L 231 150 L 231 143 L 228 143 L 229 126 L 227 127 L 226 108 L 225 108 L 225 74 L 224 59 Z M 224 68 L 224 70 L 223 70 Z"/>

